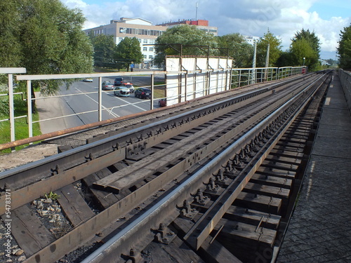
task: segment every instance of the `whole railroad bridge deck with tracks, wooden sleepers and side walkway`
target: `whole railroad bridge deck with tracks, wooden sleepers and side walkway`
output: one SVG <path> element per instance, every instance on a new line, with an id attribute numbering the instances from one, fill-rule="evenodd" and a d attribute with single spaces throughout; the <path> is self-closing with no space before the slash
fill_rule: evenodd
<path id="1" fill-rule="evenodd" d="M 350 262 L 350 79 L 298 74 L 46 138 L 25 150 L 58 154 L 0 173 L 0 258 Z"/>

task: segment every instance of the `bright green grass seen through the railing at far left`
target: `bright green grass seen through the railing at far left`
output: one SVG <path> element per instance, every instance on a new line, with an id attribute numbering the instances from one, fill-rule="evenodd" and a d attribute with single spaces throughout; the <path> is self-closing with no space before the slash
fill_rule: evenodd
<path id="1" fill-rule="evenodd" d="M 8 114 L 8 97 L 3 96 L 0 98 L 0 119 L 9 119 Z M 27 115 L 27 102 L 22 100 L 20 95 L 15 95 L 14 97 L 14 113 L 16 116 Z M 39 114 L 32 114 L 33 121 L 39 121 Z M 33 136 L 41 135 L 39 123 L 33 124 Z M 29 137 L 28 133 L 28 123 L 27 118 L 15 119 L 15 140 L 25 139 Z M 11 128 L 10 121 L 0 122 L 0 144 L 11 142 Z M 15 150 L 27 147 L 26 145 L 21 145 L 15 147 Z M 11 149 L 5 149 L 0 151 L 0 154 L 10 153 Z"/>

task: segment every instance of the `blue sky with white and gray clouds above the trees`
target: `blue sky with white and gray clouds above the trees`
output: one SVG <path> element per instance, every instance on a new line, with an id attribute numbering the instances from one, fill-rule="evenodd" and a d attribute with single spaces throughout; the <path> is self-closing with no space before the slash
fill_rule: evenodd
<path id="1" fill-rule="evenodd" d="M 119 18 L 143 18 L 157 25 L 183 19 L 208 20 L 218 35 L 260 36 L 270 32 L 287 50 L 301 29 L 314 32 L 322 59 L 336 60 L 340 31 L 351 25 L 350 0 L 60 0 L 79 8 L 84 29 L 107 25 Z"/>

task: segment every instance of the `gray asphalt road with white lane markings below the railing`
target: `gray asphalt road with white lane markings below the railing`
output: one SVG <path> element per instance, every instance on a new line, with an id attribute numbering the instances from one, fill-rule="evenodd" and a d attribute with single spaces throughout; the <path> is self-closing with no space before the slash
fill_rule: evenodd
<path id="1" fill-rule="evenodd" d="M 160 76 L 161 77 L 161 76 Z M 104 77 L 102 81 L 114 83 L 114 77 Z M 134 86 L 150 85 L 150 76 L 127 76 L 125 82 L 131 82 Z M 156 78 L 155 78 L 156 81 Z M 60 89 L 55 99 L 37 100 L 39 118 L 51 119 L 59 116 L 67 116 L 64 119 L 41 122 L 41 133 L 51 133 L 65 128 L 72 128 L 98 121 L 98 78 L 93 82 L 77 81 L 66 90 Z M 154 108 L 159 107 L 158 100 L 154 100 Z M 102 90 L 102 120 L 113 119 L 151 109 L 150 100 L 141 100 L 134 97 L 117 97 L 112 90 Z M 74 114 L 79 114 L 75 116 Z"/>

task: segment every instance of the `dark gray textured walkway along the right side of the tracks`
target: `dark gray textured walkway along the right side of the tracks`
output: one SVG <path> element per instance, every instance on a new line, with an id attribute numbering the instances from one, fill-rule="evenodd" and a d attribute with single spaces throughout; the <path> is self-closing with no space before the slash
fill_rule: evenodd
<path id="1" fill-rule="evenodd" d="M 351 262 L 351 117 L 335 74 L 276 262 Z"/>

